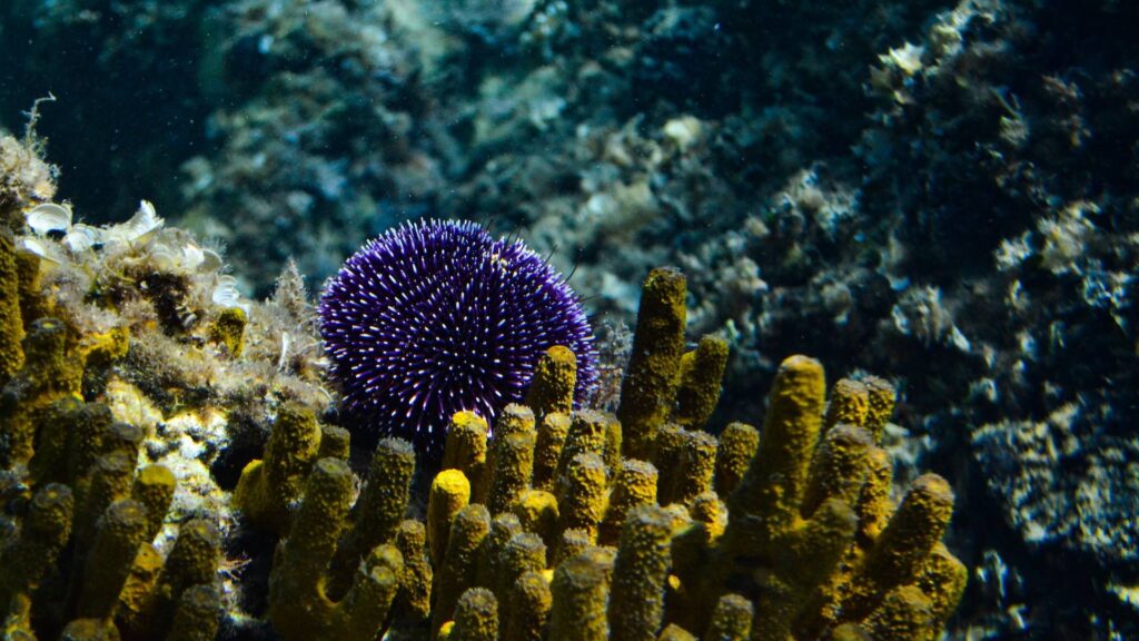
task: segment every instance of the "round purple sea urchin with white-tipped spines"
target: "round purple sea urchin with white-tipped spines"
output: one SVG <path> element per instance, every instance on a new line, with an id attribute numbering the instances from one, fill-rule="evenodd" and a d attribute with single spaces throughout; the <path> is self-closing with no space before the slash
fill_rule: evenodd
<path id="1" fill-rule="evenodd" d="M 593 334 L 565 278 L 474 222 L 419 221 L 369 242 L 325 287 L 320 317 L 354 431 L 428 452 L 458 411 L 493 424 L 552 346 L 577 356 L 579 398 L 597 379 Z"/>

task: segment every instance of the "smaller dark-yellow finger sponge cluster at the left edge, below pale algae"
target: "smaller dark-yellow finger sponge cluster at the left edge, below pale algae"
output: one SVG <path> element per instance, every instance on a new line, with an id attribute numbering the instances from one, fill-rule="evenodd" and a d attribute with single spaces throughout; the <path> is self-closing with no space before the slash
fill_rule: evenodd
<path id="1" fill-rule="evenodd" d="M 14 530 L 0 537 L 0 634 L 212 639 L 222 611 L 216 516 L 182 522 L 163 558 L 156 537 L 178 481 L 165 465 L 137 469 L 144 430 L 79 398 L 96 359 L 68 351 L 66 331 L 55 318 L 32 323 L 27 359 L 2 392 L 0 495 L 26 505 L 0 519 Z"/>

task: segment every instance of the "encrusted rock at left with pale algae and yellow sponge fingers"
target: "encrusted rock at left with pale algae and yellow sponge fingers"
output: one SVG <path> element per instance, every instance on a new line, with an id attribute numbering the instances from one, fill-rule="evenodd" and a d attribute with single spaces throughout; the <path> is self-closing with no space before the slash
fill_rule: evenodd
<path id="1" fill-rule="evenodd" d="M 277 516 L 265 484 L 246 481 L 245 502 L 222 488 L 228 452 L 272 429 L 281 445 L 249 466 L 300 476 L 297 496 L 310 471 L 289 437 L 317 428 L 327 393 L 300 276 L 245 301 L 220 257 L 146 205 L 49 236 L 38 212 L 67 208 L 28 187 L 52 175 L 38 154 L 0 135 L 0 638 L 208 641 L 252 620 L 240 562 L 222 558 L 230 505 Z M 312 455 L 346 452 L 325 430 Z"/>

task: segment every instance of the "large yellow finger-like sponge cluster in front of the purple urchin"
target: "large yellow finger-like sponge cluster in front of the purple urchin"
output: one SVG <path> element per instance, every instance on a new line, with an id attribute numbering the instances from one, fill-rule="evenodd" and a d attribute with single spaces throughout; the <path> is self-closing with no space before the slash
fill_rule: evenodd
<path id="1" fill-rule="evenodd" d="M 593 409 L 549 411 L 574 389 L 560 348 L 533 381 L 544 412 L 511 404 L 492 430 L 456 413 L 425 525 L 395 526 L 418 511 L 408 509 L 407 441 L 380 441 L 355 505 L 349 468 L 313 462 L 279 530 L 268 611 L 277 632 L 286 641 L 937 638 L 966 579 L 940 543 L 953 495 L 925 474 L 891 501 L 878 444 L 893 389 L 842 380 L 828 399 L 821 365 L 793 356 L 760 438 L 741 423 L 721 439 L 686 429 L 680 399 L 716 390 L 722 368 L 673 349 L 683 315 L 667 303 L 683 294 L 677 270 L 646 279 L 646 354 L 625 375 L 657 382 L 626 386 L 629 425 Z M 677 400 L 637 411 L 653 399 Z M 382 510 L 371 505 L 379 496 Z"/>

